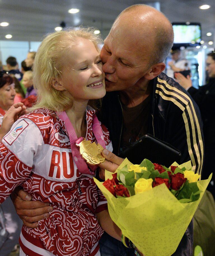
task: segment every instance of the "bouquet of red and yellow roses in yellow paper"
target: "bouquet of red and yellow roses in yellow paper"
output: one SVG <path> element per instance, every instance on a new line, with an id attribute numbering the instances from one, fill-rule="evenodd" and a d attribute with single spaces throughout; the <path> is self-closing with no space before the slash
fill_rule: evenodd
<path id="1" fill-rule="evenodd" d="M 112 220 L 146 256 L 169 256 L 177 249 L 209 179 L 191 170 L 191 163 L 169 168 L 144 159 L 127 159 L 104 183 L 95 179 L 108 202 Z"/>

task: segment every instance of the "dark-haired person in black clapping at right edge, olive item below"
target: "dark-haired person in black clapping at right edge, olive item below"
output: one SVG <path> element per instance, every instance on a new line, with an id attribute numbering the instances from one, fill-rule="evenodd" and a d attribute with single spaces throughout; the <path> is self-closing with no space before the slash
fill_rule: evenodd
<path id="1" fill-rule="evenodd" d="M 198 206 L 193 221 L 193 245 L 200 245 L 204 255 L 215 255 L 215 50 L 207 54 L 206 71 L 209 76 L 208 83 L 196 89 L 192 86 L 189 76 L 184 77 L 176 73 L 179 84 L 190 93 L 198 104 L 202 115 L 203 133 L 205 140 L 205 159 L 203 165 L 202 179 L 207 179 L 211 172 L 213 176 L 207 190 Z M 211 193 L 212 195 L 211 195 Z"/>

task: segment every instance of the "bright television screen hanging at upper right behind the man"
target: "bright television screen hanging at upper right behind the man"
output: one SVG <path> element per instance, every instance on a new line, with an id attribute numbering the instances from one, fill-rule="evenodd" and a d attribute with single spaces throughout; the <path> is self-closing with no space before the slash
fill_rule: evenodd
<path id="1" fill-rule="evenodd" d="M 174 45 L 197 46 L 200 45 L 201 25 L 199 23 L 172 23 L 174 30 Z"/>

